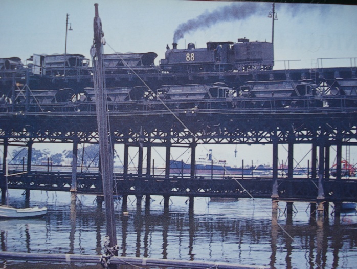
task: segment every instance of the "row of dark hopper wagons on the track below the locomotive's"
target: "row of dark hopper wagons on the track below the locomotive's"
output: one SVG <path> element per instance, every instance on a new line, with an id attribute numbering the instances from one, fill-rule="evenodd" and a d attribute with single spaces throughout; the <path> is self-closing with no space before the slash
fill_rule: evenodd
<path id="1" fill-rule="evenodd" d="M 1 94 L 1 93 L 0 93 Z M 106 88 L 109 110 L 164 109 L 296 109 L 355 107 L 357 79 L 335 79 L 331 85 L 311 80 L 249 81 L 232 88 L 213 84 L 163 85 Z M 84 88 L 30 90 L 18 88 L 14 96 L 2 95 L 2 111 L 94 111 L 95 90 Z M 163 105 L 165 104 L 165 106 Z"/>

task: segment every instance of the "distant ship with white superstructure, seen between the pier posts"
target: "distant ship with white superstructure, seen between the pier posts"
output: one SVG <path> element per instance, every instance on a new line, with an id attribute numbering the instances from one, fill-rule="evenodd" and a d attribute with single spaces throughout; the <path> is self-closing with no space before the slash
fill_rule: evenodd
<path id="1" fill-rule="evenodd" d="M 237 168 L 227 165 L 226 160 L 213 160 L 212 150 L 205 157 L 200 157 L 195 162 L 195 175 L 214 175 L 214 176 L 230 176 L 230 175 L 252 175 L 254 167 Z M 190 175 L 191 165 L 183 161 L 170 161 L 170 174 L 174 175 Z"/>

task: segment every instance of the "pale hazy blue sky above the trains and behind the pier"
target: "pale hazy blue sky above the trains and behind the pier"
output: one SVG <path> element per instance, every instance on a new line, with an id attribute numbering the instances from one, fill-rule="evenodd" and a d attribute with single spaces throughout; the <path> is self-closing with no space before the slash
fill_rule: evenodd
<path id="1" fill-rule="evenodd" d="M 209 28 L 199 28 L 185 34 L 178 41 L 178 48 L 193 42 L 203 48 L 208 41 L 233 41 L 248 38 L 268 41 L 272 38 L 272 19 L 268 14 L 272 3 L 225 1 L 176 1 L 176 0 L 2 0 L 0 9 L 0 58 L 17 56 L 25 63 L 33 54 L 64 53 L 66 14 L 73 31 L 68 31 L 67 52 L 90 57 L 93 43 L 94 3 L 99 4 L 107 45 L 105 53 L 156 52 L 155 63 L 164 58 L 166 44 L 171 46 L 177 27 L 201 14 L 210 14 L 229 6 L 239 10 L 237 18 L 217 22 Z M 275 60 L 300 60 L 290 63 L 291 68 L 316 67 L 318 58 L 357 57 L 357 6 L 322 4 L 276 4 Z M 244 14 L 244 19 L 239 19 Z M 219 14 L 218 19 L 227 16 Z M 207 23 L 206 23 L 207 24 Z M 112 47 L 114 51 L 108 46 Z M 323 60 L 327 66 L 350 66 L 350 59 Z M 284 67 L 277 62 L 275 69 Z M 36 145 L 35 145 L 36 146 Z M 36 148 L 36 147 L 35 147 Z M 37 145 L 39 148 L 39 145 Z M 211 148 L 207 146 L 206 148 Z M 214 146 L 219 159 L 241 163 L 254 160 L 271 163 L 271 146 L 264 149 L 254 146 Z M 309 149 L 296 147 L 296 158 L 301 159 Z M 353 148 L 353 147 L 351 147 Z M 199 149 L 200 150 L 200 149 Z M 300 152 L 300 153 L 299 153 Z M 279 151 L 280 156 L 285 150 Z M 352 157 L 355 157 L 351 149 Z M 332 158 L 333 159 L 333 158 Z M 351 160 L 352 161 L 352 160 Z"/>

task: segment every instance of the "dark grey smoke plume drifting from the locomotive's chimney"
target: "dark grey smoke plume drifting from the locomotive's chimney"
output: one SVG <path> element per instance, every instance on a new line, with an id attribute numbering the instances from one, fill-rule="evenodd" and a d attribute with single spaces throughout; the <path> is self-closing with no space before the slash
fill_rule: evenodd
<path id="1" fill-rule="evenodd" d="M 207 29 L 218 22 L 231 22 L 233 20 L 246 19 L 252 15 L 267 14 L 270 5 L 259 3 L 234 3 L 225 7 L 220 7 L 212 12 L 205 12 L 197 18 L 190 19 L 188 22 L 180 24 L 173 35 L 173 42 L 184 37 L 186 33 L 199 29 Z"/>

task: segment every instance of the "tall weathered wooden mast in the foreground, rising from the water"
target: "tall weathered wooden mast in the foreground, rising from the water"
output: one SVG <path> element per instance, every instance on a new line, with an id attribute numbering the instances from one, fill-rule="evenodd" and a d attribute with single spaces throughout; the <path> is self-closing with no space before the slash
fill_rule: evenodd
<path id="1" fill-rule="evenodd" d="M 107 99 L 104 93 L 104 68 L 102 59 L 102 37 L 104 34 L 102 32 L 102 22 L 99 17 L 98 4 L 94 4 L 94 6 L 94 45 L 91 48 L 91 56 L 93 57 L 94 65 L 97 124 L 100 155 L 102 157 L 101 168 L 106 213 L 106 232 L 110 239 L 108 246 L 114 247 L 117 245 L 117 235 L 113 200 L 113 153 L 111 152 L 113 148 L 110 146 L 110 136 L 108 135 Z M 114 252 L 114 255 L 117 255 L 117 251 L 114 250 Z"/>

